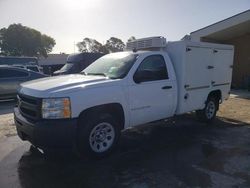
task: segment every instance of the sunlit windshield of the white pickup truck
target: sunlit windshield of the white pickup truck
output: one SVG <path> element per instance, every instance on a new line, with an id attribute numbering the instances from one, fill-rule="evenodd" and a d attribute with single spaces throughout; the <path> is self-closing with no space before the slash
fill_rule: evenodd
<path id="1" fill-rule="evenodd" d="M 137 59 L 137 54 L 120 52 L 105 55 L 89 65 L 82 73 L 103 75 L 112 79 L 124 78 Z"/>

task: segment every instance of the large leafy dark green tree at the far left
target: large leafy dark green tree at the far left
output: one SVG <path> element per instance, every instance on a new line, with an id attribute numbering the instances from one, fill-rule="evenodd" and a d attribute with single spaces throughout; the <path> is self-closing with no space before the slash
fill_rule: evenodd
<path id="1" fill-rule="evenodd" d="M 21 24 L 12 24 L 0 30 L 2 55 L 47 57 L 55 44 L 50 36 Z"/>

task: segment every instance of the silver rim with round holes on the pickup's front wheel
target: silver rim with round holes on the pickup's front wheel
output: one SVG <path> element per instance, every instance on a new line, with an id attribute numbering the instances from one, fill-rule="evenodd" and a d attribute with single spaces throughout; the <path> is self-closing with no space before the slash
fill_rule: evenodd
<path id="1" fill-rule="evenodd" d="M 115 130 L 110 123 L 99 123 L 89 135 L 89 144 L 94 152 L 101 153 L 107 151 L 115 139 Z"/>

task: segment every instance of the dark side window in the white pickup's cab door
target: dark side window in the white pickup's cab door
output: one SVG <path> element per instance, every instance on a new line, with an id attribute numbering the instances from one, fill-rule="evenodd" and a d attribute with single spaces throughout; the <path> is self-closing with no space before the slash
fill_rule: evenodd
<path id="1" fill-rule="evenodd" d="M 135 83 L 168 79 L 166 63 L 162 55 L 146 57 L 134 74 Z"/>

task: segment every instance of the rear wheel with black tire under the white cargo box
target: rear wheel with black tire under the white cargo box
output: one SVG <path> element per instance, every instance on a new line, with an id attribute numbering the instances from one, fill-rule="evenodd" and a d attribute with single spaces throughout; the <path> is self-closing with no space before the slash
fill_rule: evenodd
<path id="1" fill-rule="evenodd" d="M 196 116 L 200 121 L 212 123 L 216 117 L 219 101 L 215 97 L 208 97 L 206 106 L 202 110 L 196 111 Z"/>

